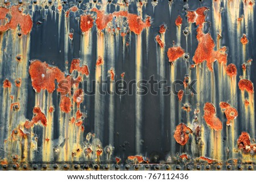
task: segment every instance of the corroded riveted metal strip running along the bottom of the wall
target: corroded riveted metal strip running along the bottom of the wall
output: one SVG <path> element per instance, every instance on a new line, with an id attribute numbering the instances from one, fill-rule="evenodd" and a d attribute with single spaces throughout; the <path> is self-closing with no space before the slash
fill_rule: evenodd
<path id="1" fill-rule="evenodd" d="M 23 164 L 3 165 L 0 171 L 254 171 L 255 164 Z"/>

